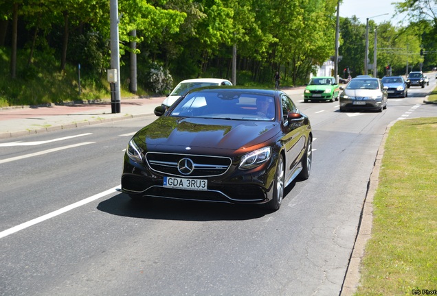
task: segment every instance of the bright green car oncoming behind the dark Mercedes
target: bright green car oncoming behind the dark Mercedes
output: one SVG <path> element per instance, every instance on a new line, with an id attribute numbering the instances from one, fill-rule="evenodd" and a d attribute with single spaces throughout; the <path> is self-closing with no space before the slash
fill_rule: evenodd
<path id="1" fill-rule="evenodd" d="M 334 77 L 313 77 L 304 91 L 304 102 L 338 101 L 340 88 Z"/>

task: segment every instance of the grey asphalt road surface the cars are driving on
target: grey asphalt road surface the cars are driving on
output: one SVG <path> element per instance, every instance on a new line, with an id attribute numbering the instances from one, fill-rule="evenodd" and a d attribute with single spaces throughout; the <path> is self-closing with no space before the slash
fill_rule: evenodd
<path id="1" fill-rule="evenodd" d="M 117 192 L 128 140 L 154 116 L 0 140 L 0 295 L 338 295 L 383 133 L 437 116 L 430 84 L 382 113 L 289 91 L 313 168 L 273 213 Z"/>

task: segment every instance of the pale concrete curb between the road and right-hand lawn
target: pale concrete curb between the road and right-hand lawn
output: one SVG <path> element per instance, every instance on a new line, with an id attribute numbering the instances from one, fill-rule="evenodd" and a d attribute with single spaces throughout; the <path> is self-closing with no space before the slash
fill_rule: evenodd
<path id="1" fill-rule="evenodd" d="M 366 243 L 372 237 L 372 221 L 373 221 L 373 197 L 377 191 L 379 184 L 379 171 L 381 169 L 382 159 L 384 155 L 385 142 L 388 137 L 388 132 L 392 125 L 396 121 L 392 121 L 388 127 L 385 129 L 381 144 L 377 152 L 377 157 L 374 161 L 374 167 L 372 173 L 370 174 L 370 179 L 368 182 L 368 189 L 366 193 L 366 198 L 363 202 L 363 209 L 361 210 L 361 217 L 358 225 L 357 237 L 355 238 L 354 247 L 352 249 L 352 254 L 350 255 L 350 260 L 348 264 L 348 269 L 346 270 L 346 276 L 344 277 L 343 286 L 339 295 L 349 296 L 353 295 L 359 286 L 360 280 L 360 267 L 361 260 L 363 260 Z"/>

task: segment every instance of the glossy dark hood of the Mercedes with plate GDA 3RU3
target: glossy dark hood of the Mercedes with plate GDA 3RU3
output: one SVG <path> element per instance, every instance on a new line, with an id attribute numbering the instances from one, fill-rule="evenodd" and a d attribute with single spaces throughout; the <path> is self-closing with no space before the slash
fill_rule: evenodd
<path id="1" fill-rule="evenodd" d="M 244 149 L 266 142 L 279 132 L 280 124 L 272 121 L 162 116 L 135 136 L 146 143 L 148 151 L 195 153 L 205 149 Z"/>

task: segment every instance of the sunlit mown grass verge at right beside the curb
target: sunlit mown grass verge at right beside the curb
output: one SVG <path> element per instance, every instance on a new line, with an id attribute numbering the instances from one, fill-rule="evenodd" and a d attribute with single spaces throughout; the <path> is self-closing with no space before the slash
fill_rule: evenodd
<path id="1" fill-rule="evenodd" d="M 391 127 L 355 295 L 437 293 L 436 150 L 437 117 Z"/>

